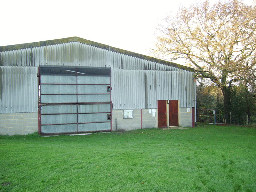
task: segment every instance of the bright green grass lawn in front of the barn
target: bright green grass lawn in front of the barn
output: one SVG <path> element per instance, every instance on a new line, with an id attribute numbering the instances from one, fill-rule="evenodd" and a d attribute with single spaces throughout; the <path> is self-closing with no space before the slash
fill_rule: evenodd
<path id="1" fill-rule="evenodd" d="M 255 192 L 255 157 L 238 126 L 0 136 L 0 191 Z"/>

